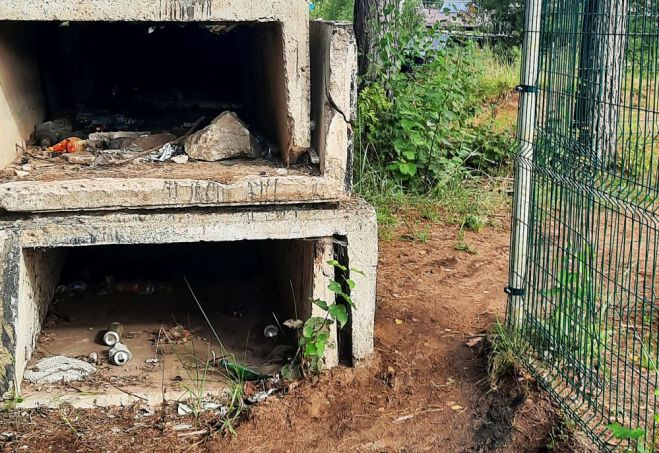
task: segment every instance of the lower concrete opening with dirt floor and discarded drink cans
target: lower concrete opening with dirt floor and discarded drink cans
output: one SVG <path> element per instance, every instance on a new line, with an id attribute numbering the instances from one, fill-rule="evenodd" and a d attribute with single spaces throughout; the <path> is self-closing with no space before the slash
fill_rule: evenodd
<path id="1" fill-rule="evenodd" d="M 25 380 L 22 393 L 42 404 L 55 394 L 162 398 L 163 388 L 184 397 L 183 386 L 195 385 L 207 363 L 206 390 L 226 386 L 218 365 L 226 354 L 276 373 L 296 349 L 294 332 L 279 324 L 311 314 L 317 247 L 315 240 L 261 240 L 24 249 L 17 379 L 49 356 L 96 353 L 98 363 L 85 380 Z M 102 342 L 112 322 L 123 325 L 121 341 L 133 354 L 124 366 L 110 363 Z M 277 335 L 269 338 L 266 329 Z"/>

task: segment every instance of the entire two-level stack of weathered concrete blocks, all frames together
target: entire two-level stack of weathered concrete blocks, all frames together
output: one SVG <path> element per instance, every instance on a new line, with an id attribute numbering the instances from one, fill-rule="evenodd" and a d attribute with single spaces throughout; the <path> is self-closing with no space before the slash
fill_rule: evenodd
<path id="1" fill-rule="evenodd" d="M 55 167 L 26 177 L 0 176 L 0 391 L 20 390 L 67 257 L 73 250 L 109 245 L 130 253 L 144 244 L 263 241 L 269 244 L 263 259 L 273 269 L 268 277 L 279 292 L 293 292 L 300 319 L 322 314 L 311 300 L 336 297 L 327 288 L 336 269 L 327 261 L 357 268 L 363 274 L 349 273 L 357 310 L 350 310 L 345 329 L 332 331 L 336 347 L 327 350 L 325 361 L 333 366 L 366 359 L 373 350 L 377 225 L 374 210 L 350 193 L 356 107 L 350 26 L 309 26 L 301 1 L 3 1 L 0 169 L 44 119 L 44 79 L 33 34 L 44 21 L 249 23 L 244 34 L 254 44 L 249 51 L 255 63 L 246 73 L 263 84 L 256 80 L 263 96 L 251 97 L 258 104 L 252 112 L 261 112 L 282 155 L 279 164 L 154 166 L 148 176 L 142 167 L 73 173 Z M 311 164 L 292 164 L 310 148 Z"/>

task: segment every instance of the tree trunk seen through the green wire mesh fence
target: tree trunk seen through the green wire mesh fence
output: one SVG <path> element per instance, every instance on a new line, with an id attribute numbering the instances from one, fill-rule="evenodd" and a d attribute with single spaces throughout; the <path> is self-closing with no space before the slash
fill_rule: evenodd
<path id="1" fill-rule="evenodd" d="M 597 166 L 616 164 L 629 0 L 590 0 L 579 64 L 576 125 Z"/>

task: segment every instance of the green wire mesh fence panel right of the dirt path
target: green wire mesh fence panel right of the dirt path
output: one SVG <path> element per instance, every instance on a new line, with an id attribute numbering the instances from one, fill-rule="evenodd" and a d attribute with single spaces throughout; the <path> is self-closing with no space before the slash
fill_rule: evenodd
<path id="1" fill-rule="evenodd" d="M 652 451 L 659 0 L 527 0 L 524 42 L 507 323 L 601 449 Z"/>

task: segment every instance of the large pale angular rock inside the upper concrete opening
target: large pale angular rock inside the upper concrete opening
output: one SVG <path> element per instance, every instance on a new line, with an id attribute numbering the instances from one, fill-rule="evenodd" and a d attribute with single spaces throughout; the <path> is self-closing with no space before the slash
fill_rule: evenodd
<path id="1" fill-rule="evenodd" d="M 190 135 L 185 140 L 185 152 L 193 159 L 209 162 L 242 155 L 261 155 L 260 147 L 247 126 L 238 115 L 228 111 Z"/>

